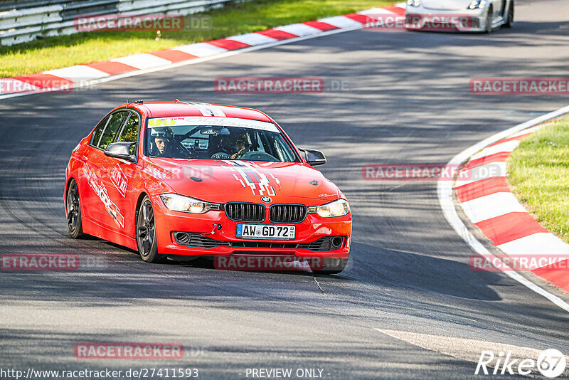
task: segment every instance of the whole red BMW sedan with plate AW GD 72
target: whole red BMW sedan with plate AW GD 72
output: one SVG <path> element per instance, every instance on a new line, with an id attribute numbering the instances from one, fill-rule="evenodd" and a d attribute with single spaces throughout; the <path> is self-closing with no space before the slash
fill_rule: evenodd
<path id="1" fill-rule="evenodd" d="M 350 251 L 346 196 L 263 112 L 142 101 L 109 112 L 73 149 L 70 236 L 166 257 L 280 256 L 339 273 Z M 317 259 L 317 260 L 308 260 Z"/>

